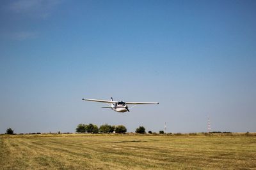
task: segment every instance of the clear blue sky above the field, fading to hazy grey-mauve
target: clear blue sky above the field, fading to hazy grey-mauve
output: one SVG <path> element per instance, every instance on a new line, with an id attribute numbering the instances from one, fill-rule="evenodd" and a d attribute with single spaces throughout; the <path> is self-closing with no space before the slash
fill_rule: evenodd
<path id="1" fill-rule="evenodd" d="M 256 1 L 1 1 L 0 133 L 256 132 Z M 159 102 L 129 113 L 82 98 Z"/>

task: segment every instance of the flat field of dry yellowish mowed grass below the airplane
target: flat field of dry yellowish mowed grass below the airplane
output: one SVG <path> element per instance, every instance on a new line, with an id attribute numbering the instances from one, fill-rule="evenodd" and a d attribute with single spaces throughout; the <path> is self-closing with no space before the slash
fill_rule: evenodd
<path id="1" fill-rule="evenodd" d="M 256 169 L 256 136 L 0 136 L 0 169 Z"/>

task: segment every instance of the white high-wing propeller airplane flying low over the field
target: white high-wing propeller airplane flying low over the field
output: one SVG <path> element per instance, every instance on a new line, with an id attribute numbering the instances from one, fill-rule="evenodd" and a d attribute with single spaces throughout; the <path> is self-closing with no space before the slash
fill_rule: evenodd
<path id="1" fill-rule="evenodd" d="M 96 100 L 96 99 L 82 99 L 84 101 L 95 101 L 95 102 L 101 102 L 101 103 L 107 103 L 109 104 L 109 107 L 102 107 L 102 108 L 109 108 L 116 112 L 126 112 L 129 111 L 127 104 L 133 104 L 136 106 L 137 104 L 159 104 L 159 103 L 149 103 L 149 102 L 124 102 L 124 101 L 113 101 L 113 98 L 111 97 L 110 101 L 104 101 L 104 100 Z M 111 104 L 111 105 L 110 105 Z M 131 108 L 133 108 L 132 106 Z"/>

